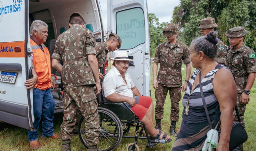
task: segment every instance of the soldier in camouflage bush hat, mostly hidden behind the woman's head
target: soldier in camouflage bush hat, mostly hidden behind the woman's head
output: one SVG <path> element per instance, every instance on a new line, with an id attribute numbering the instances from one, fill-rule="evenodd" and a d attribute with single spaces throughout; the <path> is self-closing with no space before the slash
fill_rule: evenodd
<path id="1" fill-rule="evenodd" d="M 202 19 L 200 21 L 200 24 L 198 25 L 198 28 L 201 29 L 200 31 L 202 36 L 209 34 L 211 31 L 214 30 L 214 27 L 218 27 L 218 24 L 216 24 L 215 19 L 211 17 Z M 215 61 L 222 65 L 226 65 L 225 57 L 227 55 L 227 50 L 226 50 L 225 44 L 219 38 L 217 39 L 218 39 L 218 43 L 217 43 L 218 55 Z"/>

